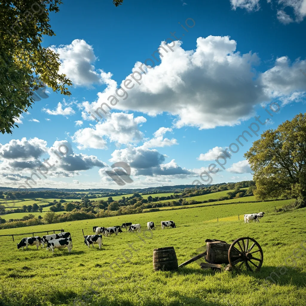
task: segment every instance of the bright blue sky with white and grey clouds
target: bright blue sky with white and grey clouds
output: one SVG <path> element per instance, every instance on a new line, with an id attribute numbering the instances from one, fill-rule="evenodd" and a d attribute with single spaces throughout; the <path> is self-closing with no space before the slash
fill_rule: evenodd
<path id="1" fill-rule="evenodd" d="M 120 161 L 131 166 L 126 188 L 200 179 L 254 116 L 271 119 L 261 133 L 305 112 L 304 16 L 304 0 L 65 2 L 50 15 L 56 36 L 43 46 L 60 54 L 72 95 L 48 93 L 12 135 L 0 136 L 0 185 L 24 185 L 43 159 L 55 161 L 51 149 L 61 144 L 69 153 L 32 187 L 121 188 L 105 172 Z M 155 67 L 143 65 L 144 73 L 138 67 L 147 58 Z M 133 80 L 127 99 L 117 96 L 97 123 L 88 111 L 134 71 L 140 84 Z M 263 109 L 271 102 L 280 106 L 273 118 Z M 252 133 L 231 153 L 213 183 L 252 179 L 243 154 L 258 138 Z"/>

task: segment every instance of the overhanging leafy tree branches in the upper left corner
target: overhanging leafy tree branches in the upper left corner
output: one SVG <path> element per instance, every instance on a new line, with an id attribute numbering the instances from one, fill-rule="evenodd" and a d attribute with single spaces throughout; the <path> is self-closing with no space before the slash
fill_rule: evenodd
<path id="1" fill-rule="evenodd" d="M 3 134 L 12 133 L 15 118 L 28 111 L 34 102 L 33 91 L 44 87 L 44 83 L 53 91 L 70 95 L 65 85 L 72 85 L 71 81 L 65 74 L 58 74 L 59 54 L 41 46 L 43 35 L 55 35 L 49 13 L 58 12 L 62 1 L 38 2 L 0 3 L 0 131 Z"/>

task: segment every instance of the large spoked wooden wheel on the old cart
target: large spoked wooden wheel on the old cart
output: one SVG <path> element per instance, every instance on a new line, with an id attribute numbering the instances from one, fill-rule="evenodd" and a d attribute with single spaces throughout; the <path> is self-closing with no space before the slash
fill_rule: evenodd
<path id="1" fill-rule="evenodd" d="M 228 259 L 233 270 L 256 272 L 263 264 L 263 250 L 253 238 L 238 238 L 230 246 Z"/>

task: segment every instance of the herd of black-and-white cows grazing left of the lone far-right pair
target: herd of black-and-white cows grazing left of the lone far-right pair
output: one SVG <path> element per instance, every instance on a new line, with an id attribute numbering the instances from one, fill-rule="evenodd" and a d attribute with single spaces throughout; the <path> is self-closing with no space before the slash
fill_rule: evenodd
<path id="1" fill-rule="evenodd" d="M 175 228 L 175 223 L 173 221 L 161 221 L 161 226 L 162 230 L 165 227 L 171 227 Z M 128 223 L 123 223 L 122 225 L 117 225 L 117 226 L 111 226 L 111 227 L 99 227 L 99 226 L 94 226 L 92 228 L 93 232 L 95 235 L 87 235 L 83 236 L 84 237 L 84 243 L 90 247 L 92 244 L 92 247 L 94 248 L 94 244 L 98 244 L 99 249 L 101 249 L 102 246 L 102 236 L 104 235 L 105 237 L 110 236 L 111 234 L 116 234 L 122 233 L 121 228 L 125 228 L 126 231 L 129 231 L 131 233 L 138 232 L 140 233 L 141 225 L 139 223 L 137 224 L 132 224 L 132 222 Z M 127 230 L 129 228 L 129 230 Z M 148 230 L 155 230 L 155 225 L 154 222 L 150 221 L 147 222 L 147 228 Z M 52 234 L 52 235 L 46 235 L 40 238 L 39 236 L 36 237 L 27 237 L 27 238 L 22 238 L 21 241 L 17 244 L 17 249 L 24 247 L 28 248 L 28 246 L 36 246 L 37 250 L 38 247 L 44 248 L 44 245 L 47 245 L 47 250 L 50 248 L 52 250 L 52 253 L 54 253 L 55 248 L 67 248 L 68 252 L 71 252 L 72 249 L 72 239 L 70 237 L 69 232 L 64 232 L 64 233 L 58 233 L 58 234 Z"/>

